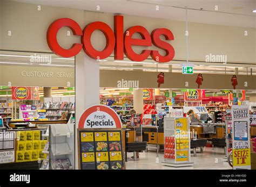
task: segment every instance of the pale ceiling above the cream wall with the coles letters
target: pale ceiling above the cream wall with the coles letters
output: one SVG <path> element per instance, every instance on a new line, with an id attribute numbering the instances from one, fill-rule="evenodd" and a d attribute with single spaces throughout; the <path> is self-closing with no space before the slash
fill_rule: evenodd
<path id="1" fill-rule="evenodd" d="M 215 25 L 256 27 L 255 0 L 14 0 L 16 2 L 60 6 L 88 11 L 165 18 Z M 159 10 L 156 10 L 156 6 Z M 217 7 L 218 6 L 218 7 Z M 218 10 L 215 10 L 218 8 Z"/>

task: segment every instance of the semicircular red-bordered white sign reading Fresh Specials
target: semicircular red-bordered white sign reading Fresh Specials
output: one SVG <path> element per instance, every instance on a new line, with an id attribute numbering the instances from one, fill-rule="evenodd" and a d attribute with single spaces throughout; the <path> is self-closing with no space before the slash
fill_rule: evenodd
<path id="1" fill-rule="evenodd" d="M 78 128 L 122 128 L 122 122 L 117 113 L 110 107 L 93 105 L 82 114 Z"/>

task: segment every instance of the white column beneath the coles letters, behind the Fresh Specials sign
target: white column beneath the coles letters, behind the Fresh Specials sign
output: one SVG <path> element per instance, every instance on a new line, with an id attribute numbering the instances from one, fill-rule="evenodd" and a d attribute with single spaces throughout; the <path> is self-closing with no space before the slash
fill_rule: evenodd
<path id="1" fill-rule="evenodd" d="M 99 62 L 83 51 L 76 56 L 76 132 L 79 119 L 87 107 L 99 104 Z M 78 145 L 76 135 L 75 160 L 78 169 Z"/>

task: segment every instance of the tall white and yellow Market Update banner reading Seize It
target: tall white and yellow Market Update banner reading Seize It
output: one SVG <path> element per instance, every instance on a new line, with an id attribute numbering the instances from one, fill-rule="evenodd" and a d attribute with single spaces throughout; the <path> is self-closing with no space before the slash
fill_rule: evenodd
<path id="1" fill-rule="evenodd" d="M 249 106 L 232 106 L 232 130 L 233 169 L 251 169 Z"/>

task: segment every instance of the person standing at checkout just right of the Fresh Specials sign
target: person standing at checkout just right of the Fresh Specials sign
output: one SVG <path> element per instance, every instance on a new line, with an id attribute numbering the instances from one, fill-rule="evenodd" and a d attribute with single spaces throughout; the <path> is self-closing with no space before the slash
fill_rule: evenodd
<path id="1" fill-rule="evenodd" d="M 132 116 L 131 121 L 127 123 L 127 128 L 134 128 L 136 131 L 136 141 L 142 142 L 142 126 L 139 123 L 134 123 L 134 115 L 136 114 L 136 111 L 131 109 L 129 111 L 129 114 Z M 134 157 L 132 156 L 132 159 Z M 139 159 L 139 152 L 136 152 L 136 158 Z"/>

